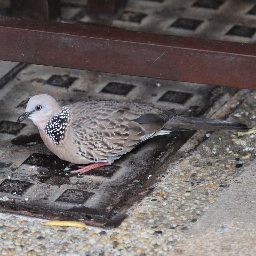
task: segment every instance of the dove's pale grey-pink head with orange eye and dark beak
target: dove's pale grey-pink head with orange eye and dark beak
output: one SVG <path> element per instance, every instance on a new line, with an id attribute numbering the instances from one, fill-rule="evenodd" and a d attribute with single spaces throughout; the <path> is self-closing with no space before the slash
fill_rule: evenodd
<path id="1" fill-rule="evenodd" d="M 37 126 L 45 123 L 57 113 L 61 112 L 61 107 L 57 101 L 48 94 L 38 94 L 31 97 L 27 103 L 26 112 L 18 118 L 18 123 L 29 118 Z"/>

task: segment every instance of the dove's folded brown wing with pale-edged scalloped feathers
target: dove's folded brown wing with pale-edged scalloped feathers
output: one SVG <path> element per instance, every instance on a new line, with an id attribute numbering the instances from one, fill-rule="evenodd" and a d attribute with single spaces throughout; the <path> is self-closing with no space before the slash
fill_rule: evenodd
<path id="1" fill-rule="evenodd" d="M 108 161 L 132 150 L 170 121 L 170 114 L 137 103 L 88 101 L 69 105 L 70 129 L 78 154 Z"/>

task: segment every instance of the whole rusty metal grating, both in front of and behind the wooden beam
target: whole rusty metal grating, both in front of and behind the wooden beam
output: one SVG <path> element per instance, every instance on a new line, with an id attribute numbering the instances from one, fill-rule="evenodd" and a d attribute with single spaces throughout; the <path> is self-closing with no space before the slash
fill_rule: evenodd
<path id="1" fill-rule="evenodd" d="M 63 21 L 247 43 L 255 40 L 256 5 L 252 1 L 131 0 L 122 13 L 108 20 L 90 17 L 82 1 L 74 2 L 63 1 Z M 6 78 L 0 80 L 2 207 L 105 226 L 117 226 L 125 218 L 120 207 L 192 132 L 158 136 L 111 166 L 71 175 L 65 171 L 68 163 L 48 151 L 32 122 L 16 123 L 28 99 L 47 93 L 60 105 L 89 99 L 135 101 L 198 116 L 224 93 L 236 92 L 213 85 L 38 65 L 23 66 Z"/>

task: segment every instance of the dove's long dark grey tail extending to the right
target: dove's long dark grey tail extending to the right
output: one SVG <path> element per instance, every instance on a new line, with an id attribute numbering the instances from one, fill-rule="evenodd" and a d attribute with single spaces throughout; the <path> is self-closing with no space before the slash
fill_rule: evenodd
<path id="1" fill-rule="evenodd" d="M 185 131 L 185 130 L 248 130 L 247 125 L 237 122 L 217 120 L 203 117 L 190 117 L 176 115 L 162 131 Z"/>

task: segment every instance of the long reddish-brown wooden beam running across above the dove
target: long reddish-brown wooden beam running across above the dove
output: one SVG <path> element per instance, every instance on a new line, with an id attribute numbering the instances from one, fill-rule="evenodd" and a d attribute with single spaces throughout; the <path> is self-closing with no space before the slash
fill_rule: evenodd
<path id="1" fill-rule="evenodd" d="M 256 89 L 256 45 L 0 17 L 0 59 Z"/>

